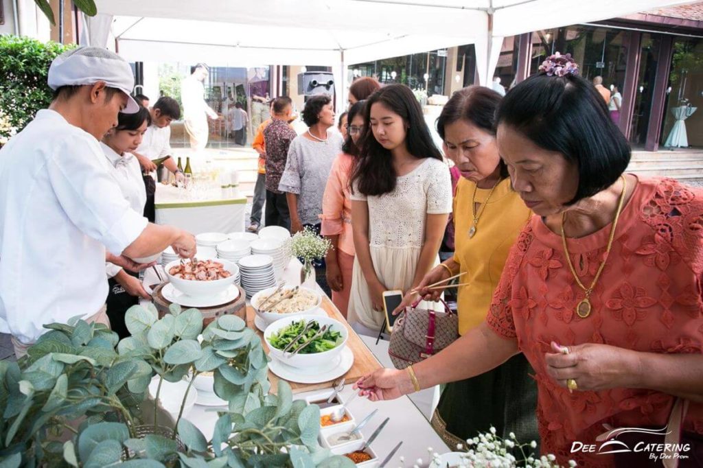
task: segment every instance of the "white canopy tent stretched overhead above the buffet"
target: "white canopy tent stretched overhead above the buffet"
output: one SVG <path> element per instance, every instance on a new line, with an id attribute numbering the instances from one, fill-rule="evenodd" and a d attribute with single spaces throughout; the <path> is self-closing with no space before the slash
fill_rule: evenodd
<path id="1" fill-rule="evenodd" d="M 337 89 L 347 65 L 475 44 L 479 82 L 503 37 L 614 18 L 690 0 L 96 0 L 88 36 L 110 25 L 131 61 L 324 65 Z M 105 44 L 92 44 L 105 45 Z M 346 96 L 337 93 L 337 105 Z"/>

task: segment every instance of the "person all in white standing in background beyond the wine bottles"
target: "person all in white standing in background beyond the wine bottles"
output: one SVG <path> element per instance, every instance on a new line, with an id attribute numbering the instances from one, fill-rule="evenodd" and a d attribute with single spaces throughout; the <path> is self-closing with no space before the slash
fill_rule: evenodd
<path id="1" fill-rule="evenodd" d="M 191 149 L 196 156 L 201 156 L 207 146 L 209 128 L 207 119 L 217 119 L 217 112 L 205 102 L 205 86 L 209 69 L 205 63 L 198 63 L 191 69 L 191 76 L 181 83 L 181 102 L 183 103 L 183 123 L 191 141 Z"/>

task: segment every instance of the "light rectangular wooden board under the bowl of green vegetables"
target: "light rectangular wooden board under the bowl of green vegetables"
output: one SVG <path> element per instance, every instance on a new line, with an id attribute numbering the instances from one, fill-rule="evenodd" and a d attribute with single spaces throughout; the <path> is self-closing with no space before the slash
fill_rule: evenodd
<path id="1" fill-rule="evenodd" d="M 294 394 L 302 393 L 304 391 L 329 389 L 333 386 L 335 381 L 342 378 L 347 379 L 347 384 L 351 384 L 369 372 L 373 372 L 381 367 L 378 360 L 375 356 L 373 356 L 373 353 L 371 353 L 371 351 L 366 347 L 366 344 L 363 344 L 361 338 L 359 338 L 359 335 L 352 330 L 352 327 L 349 326 L 347 320 L 342 317 L 340 311 L 338 311 L 335 305 L 332 304 L 329 297 L 323 297 L 321 308 L 327 313 L 328 316 L 330 316 L 330 318 L 339 320 L 347 327 L 347 330 L 349 331 L 347 346 L 349 346 L 349 349 L 351 349 L 354 353 L 354 365 L 352 365 L 352 368 L 349 369 L 346 374 L 342 375 L 342 377 L 335 380 L 330 380 L 329 382 L 322 382 L 320 384 L 298 384 L 296 382 L 288 382 Z M 264 334 L 259 332 L 256 325 L 254 325 L 254 317 L 256 317 L 254 309 L 251 306 L 247 306 L 247 326 L 257 332 L 257 335 L 261 338 L 262 343 L 264 344 L 264 351 L 269 353 L 269 347 L 266 346 L 266 342 L 264 342 Z M 271 382 L 271 392 L 273 393 L 275 393 L 278 388 L 278 380 L 279 377 L 269 371 L 269 382 Z"/>

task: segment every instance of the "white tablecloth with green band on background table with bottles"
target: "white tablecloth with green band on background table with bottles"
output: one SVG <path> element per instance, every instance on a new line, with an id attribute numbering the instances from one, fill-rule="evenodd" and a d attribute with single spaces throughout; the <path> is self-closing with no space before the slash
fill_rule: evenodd
<path id="1" fill-rule="evenodd" d="M 233 233 L 244 230 L 246 197 L 223 198 L 219 194 L 186 193 L 182 188 L 157 183 L 156 223 L 189 233 Z"/>

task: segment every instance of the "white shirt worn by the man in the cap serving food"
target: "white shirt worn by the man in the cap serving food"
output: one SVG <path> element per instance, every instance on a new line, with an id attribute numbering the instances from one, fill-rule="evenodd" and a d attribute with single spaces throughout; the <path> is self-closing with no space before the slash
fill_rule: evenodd
<path id="1" fill-rule="evenodd" d="M 105 248 L 121 254 L 147 225 L 109 171 L 98 141 L 53 110 L 0 150 L 0 332 L 30 344 L 105 304 Z"/>

